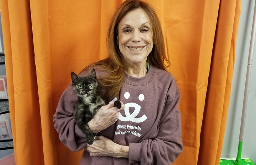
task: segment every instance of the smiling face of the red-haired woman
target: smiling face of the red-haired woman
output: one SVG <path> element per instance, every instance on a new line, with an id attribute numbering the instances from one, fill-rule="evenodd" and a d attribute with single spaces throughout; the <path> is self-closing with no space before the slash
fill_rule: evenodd
<path id="1" fill-rule="evenodd" d="M 153 34 L 150 20 L 143 9 L 128 12 L 118 24 L 119 50 L 128 64 L 146 64 L 153 48 Z"/>

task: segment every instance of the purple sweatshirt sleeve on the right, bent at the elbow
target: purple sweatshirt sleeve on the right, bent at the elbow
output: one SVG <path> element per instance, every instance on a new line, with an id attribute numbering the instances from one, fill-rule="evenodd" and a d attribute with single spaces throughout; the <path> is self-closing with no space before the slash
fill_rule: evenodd
<path id="1" fill-rule="evenodd" d="M 156 138 L 146 139 L 141 143 L 129 143 L 130 164 L 173 164 L 183 150 L 179 100 L 180 92 L 177 88 L 175 97 L 167 99 L 165 103 Z"/>

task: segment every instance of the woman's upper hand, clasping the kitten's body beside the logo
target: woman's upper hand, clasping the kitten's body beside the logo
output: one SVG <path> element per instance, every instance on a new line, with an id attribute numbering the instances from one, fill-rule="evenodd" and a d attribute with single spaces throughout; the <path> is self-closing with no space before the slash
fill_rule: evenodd
<path id="1" fill-rule="evenodd" d="M 114 124 L 118 119 L 118 112 L 124 109 L 124 103 L 121 103 L 121 108 L 118 109 L 114 106 L 116 98 L 109 102 L 108 105 L 102 106 L 94 115 L 91 121 L 87 124 L 93 133 L 98 133 L 105 130 L 107 127 Z"/>

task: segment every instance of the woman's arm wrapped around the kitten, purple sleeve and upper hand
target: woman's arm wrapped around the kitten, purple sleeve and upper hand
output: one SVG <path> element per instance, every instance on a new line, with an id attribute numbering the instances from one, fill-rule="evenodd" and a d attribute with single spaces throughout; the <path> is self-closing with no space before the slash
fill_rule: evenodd
<path id="1" fill-rule="evenodd" d="M 56 112 L 53 116 L 54 127 L 59 133 L 59 138 L 70 150 L 78 151 L 86 146 L 85 136 L 75 124 L 73 112 L 77 103 L 77 97 L 71 84 L 61 95 Z M 114 101 L 102 106 L 92 121 L 88 123 L 93 132 L 99 132 L 112 125 L 118 117 L 118 112 L 124 109 L 114 107 Z"/>

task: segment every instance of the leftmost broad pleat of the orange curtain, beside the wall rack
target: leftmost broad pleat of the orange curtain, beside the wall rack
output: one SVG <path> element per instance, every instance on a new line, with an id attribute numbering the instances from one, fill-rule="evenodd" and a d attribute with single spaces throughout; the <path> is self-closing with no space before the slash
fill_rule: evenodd
<path id="1" fill-rule="evenodd" d="M 3 26 L 9 26 L 3 36 L 16 164 L 44 164 L 29 2 L 1 1 L 0 11 Z"/>

